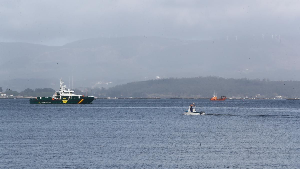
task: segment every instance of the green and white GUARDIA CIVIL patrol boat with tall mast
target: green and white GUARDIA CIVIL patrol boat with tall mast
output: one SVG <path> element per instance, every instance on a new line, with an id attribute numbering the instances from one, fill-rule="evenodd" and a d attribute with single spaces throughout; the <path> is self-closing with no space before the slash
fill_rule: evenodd
<path id="1" fill-rule="evenodd" d="M 94 97 L 73 94 L 73 90 L 67 89 L 60 79 L 60 89 L 52 97 L 30 98 L 30 104 L 93 104 Z"/>

